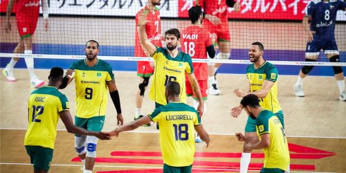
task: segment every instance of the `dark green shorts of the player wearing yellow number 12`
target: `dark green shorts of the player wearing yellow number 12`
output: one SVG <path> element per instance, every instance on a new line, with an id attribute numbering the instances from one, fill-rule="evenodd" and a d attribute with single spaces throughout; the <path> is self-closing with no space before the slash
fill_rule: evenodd
<path id="1" fill-rule="evenodd" d="M 25 145 L 26 152 L 30 156 L 30 163 L 34 165 L 34 170 L 46 170 L 53 159 L 53 149 L 35 145 Z"/>

